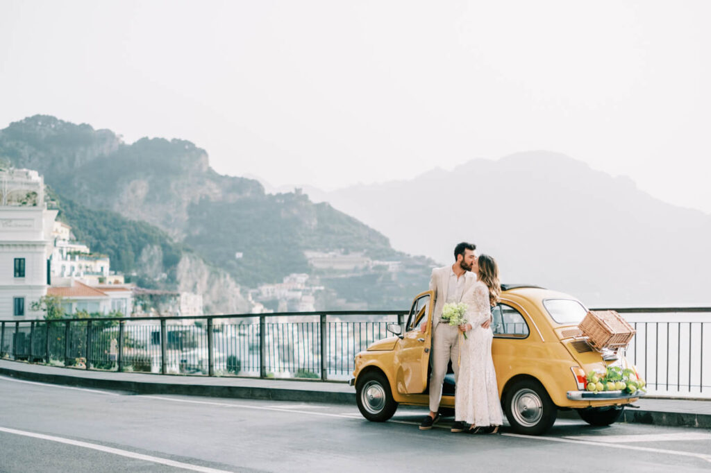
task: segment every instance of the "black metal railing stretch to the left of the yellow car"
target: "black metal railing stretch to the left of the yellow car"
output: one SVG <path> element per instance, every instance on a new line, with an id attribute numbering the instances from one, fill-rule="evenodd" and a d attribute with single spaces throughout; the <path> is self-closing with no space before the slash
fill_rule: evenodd
<path id="1" fill-rule="evenodd" d="M 107 371 L 346 380 L 407 311 L 0 322 L 0 357 Z"/>

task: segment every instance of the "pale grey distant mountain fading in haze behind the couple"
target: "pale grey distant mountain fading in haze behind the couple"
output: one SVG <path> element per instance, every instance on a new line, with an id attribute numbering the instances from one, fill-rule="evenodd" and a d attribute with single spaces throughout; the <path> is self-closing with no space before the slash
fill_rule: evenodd
<path id="1" fill-rule="evenodd" d="M 473 241 L 498 259 L 504 281 L 563 290 L 589 305 L 711 305 L 711 216 L 561 154 L 474 159 L 412 180 L 304 191 L 397 249 L 447 263 L 454 244 Z"/>

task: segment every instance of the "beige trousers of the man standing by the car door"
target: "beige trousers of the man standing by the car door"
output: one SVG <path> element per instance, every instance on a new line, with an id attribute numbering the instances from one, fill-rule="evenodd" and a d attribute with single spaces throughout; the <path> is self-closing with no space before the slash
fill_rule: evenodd
<path id="1" fill-rule="evenodd" d="M 446 322 L 437 323 L 432 334 L 432 374 L 429 375 L 429 410 L 437 412 L 442 400 L 442 384 L 451 360 L 454 381 L 459 375 L 459 328 Z"/>

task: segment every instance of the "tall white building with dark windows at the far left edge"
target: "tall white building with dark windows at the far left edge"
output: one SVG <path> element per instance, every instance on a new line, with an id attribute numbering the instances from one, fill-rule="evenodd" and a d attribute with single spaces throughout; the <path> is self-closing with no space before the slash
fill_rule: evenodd
<path id="1" fill-rule="evenodd" d="M 43 317 L 31 304 L 47 293 L 56 217 L 37 171 L 0 170 L 0 319 Z"/>

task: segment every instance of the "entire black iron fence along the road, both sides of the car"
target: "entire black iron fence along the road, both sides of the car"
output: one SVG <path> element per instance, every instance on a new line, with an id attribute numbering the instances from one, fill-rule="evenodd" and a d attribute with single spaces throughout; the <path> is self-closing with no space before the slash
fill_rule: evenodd
<path id="1" fill-rule="evenodd" d="M 711 396 L 711 308 L 618 308 L 651 393 Z M 405 311 L 0 322 L 0 357 L 83 369 L 346 380 Z"/>

